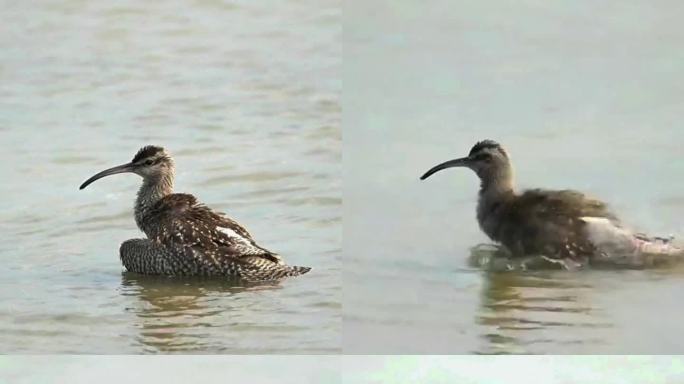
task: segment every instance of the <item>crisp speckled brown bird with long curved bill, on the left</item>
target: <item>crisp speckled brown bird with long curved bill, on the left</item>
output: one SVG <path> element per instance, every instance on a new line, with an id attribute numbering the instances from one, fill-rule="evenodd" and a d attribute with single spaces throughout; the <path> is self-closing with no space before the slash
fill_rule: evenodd
<path id="1" fill-rule="evenodd" d="M 201 204 L 193 195 L 173 193 L 174 163 L 161 147 L 143 147 L 130 163 L 102 171 L 80 187 L 117 173 L 143 178 L 135 201 L 135 222 L 147 239 L 121 244 L 127 270 L 148 275 L 233 276 L 248 281 L 297 276 L 311 268 L 286 265 L 260 247 L 237 222 Z"/>

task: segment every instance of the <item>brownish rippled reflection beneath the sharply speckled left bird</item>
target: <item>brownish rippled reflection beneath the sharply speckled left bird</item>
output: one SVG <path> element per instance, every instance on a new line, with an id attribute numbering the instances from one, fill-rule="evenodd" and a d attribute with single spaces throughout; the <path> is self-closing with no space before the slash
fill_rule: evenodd
<path id="1" fill-rule="evenodd" d="M 201 277 L 169 277 L 123 273 L 121 292 L 135 299 L 129 311 L 137 317 L 137 343 L 147 352 L 207 352 L 230 347 L 226 339 L 207 337 L 208 328 L 227 331 L 232 308 L 213 298 L 239 295 L 245 291 L 279 289 L 277 282 L 228 282 Z M 246 321 L 242 326 L 249 324 Z M 216 331 L 212 331 L 216 332 Z"/>

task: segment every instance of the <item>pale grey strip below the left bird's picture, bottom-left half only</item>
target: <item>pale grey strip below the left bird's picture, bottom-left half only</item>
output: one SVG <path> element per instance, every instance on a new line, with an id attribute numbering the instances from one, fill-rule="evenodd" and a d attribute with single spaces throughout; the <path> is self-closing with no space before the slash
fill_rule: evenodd
<path id="1" fill-rule="evenodd" d="M 35 369 L 40 367 L 40 369 Z M 314 356 L 0 356 L 7 384 L 335 384 L 339 357 Z"/>

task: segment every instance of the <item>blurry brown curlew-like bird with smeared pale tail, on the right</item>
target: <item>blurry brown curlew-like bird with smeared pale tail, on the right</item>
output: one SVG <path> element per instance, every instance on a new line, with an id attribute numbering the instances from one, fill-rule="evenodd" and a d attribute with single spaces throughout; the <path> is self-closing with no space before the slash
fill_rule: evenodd
<path id="1" fill-rule="evenodd" d="M 582 193 L 541 189 L 516 193 L 508 154 L 494 141 L 478 142 L 468 156 L 439 164 L 421 179 L 451 167 L 469 168 L 480 178 L 480 228 L 514 257 L 543 255 L 574 267 L 587 259 L 639 265 L 657 261 L 644 255 L 684 256 L 671 239 L 624 228 L 605 203 Z"/>

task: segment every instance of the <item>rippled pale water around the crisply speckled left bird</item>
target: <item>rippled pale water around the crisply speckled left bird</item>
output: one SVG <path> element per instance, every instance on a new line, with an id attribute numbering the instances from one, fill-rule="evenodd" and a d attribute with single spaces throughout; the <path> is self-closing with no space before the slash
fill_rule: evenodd
<path id="1" fill-rule="evenodd" d="M 0 23 L 3 353 L 339 351 L 337 1 L 31 1 Z M 122 274 L 139 147 L 306 276 Z"/>

